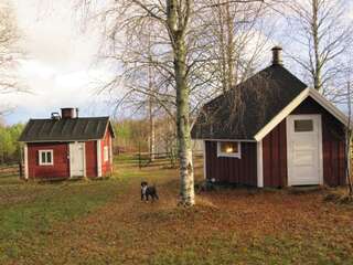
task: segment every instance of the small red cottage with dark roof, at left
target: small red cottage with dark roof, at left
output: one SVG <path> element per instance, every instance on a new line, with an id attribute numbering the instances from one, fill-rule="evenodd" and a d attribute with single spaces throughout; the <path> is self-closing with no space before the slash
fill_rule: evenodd
<path id="1" fill-rule="evenodd" d="M 109 117 L 78 117 L 62 108 L 50 119 L 30 119 L 24 142 L 25 179 L 104 177 L 113 172 L 113 138 Z"/>

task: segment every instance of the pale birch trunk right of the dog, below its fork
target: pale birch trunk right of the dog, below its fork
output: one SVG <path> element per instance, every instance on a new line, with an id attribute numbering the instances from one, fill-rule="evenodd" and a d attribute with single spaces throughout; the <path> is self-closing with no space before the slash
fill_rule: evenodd
<path id="1" fill-rule="evenodd" d="M 176 81 L 176 135 L 179 142 L 181 204 L 195 204 L 194 171 L 192 165 L 191 131 L 189 117 L 189 86 L 186 82 L 186 51 L 183 38 L 176 39 L 174 52 Z"/>

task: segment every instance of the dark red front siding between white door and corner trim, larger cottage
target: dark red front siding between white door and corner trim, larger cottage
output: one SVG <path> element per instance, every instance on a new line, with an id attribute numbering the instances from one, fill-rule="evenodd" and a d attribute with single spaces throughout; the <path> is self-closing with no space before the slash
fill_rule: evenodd
<path id="1" fill-rule="evenodd" d="M 287 186 L 287 129 L 286 119 L 263 139 L 265 187 Z"/>

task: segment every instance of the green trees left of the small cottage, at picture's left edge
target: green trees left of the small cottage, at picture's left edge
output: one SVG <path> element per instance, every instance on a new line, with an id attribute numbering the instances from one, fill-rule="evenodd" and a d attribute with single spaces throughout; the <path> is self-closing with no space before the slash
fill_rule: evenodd
<path id="1" fill-rule="evenodd" d="M 23 124 L 4 126 L 0 124 L 0 165 L 15 163 L 21 160 L 21 144 L 18 141 Z"/>

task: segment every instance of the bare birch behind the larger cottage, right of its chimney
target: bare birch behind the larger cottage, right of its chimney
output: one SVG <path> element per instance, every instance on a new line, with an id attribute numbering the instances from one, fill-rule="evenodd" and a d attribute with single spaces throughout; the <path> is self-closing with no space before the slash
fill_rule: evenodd
<path id="1" fill-rule="evenodd" d="M 311 85 L 327 96 L 334 76 L 341 71 L 340 56 L 352 42 L 352 22 L 345 13 L 346 4 L 342 0 L 293 0 L 287 3 L 288 21 L 295 32 L 290 38 L 302 53 L 293 60 L 308 74 Z"/>

